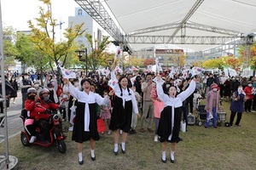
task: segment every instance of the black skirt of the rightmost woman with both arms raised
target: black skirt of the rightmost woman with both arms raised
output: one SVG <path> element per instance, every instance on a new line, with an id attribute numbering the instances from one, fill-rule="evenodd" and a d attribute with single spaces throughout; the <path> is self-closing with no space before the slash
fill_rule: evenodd
<path id="1" fill-rule="evenodd" d="M 179 138 L 180 122 L 182 116 L 182 107 L 174 109 L 174 127 L 172 129 L 172 106 L 166 106 L 160 115 L 160 122 L 157 134 L 160 136 L 160 142 L 179 142 L 182 139 Z M 172 139 L 169 140 L 169 136 L 172 133 Z"/>

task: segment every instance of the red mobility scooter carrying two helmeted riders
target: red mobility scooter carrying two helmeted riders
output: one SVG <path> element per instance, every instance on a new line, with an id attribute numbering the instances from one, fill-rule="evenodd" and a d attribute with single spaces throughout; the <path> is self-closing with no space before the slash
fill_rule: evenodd
<path id="1" fill-rule="evenodd" d="M 24 130 L 20 133 L 20 140 L 24 146 L 29 146 L 29 140 L 31 136 L 25 130 L 25 114 L 20 115 L 20 118 L 23 121 Z M 65 139 L 67 138 L 62 130 L 62 120 L 61 117 L 56 114 L 56 111 L 52 111 L 51 116 L 49 118 L 49 141 L 45 141 L 44 133 L 40 132 L 40 128 L 36 127 L 37 139 L 32 144 L 38 144 L 42 146 L 50 146 L 52 144 L 56 144 L 58 150 L 61 153 L 65 153 L 67 150 Z"/>

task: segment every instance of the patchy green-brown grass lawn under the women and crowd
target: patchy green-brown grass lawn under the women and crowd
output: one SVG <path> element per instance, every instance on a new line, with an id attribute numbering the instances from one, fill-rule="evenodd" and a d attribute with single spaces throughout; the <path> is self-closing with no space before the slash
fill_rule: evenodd
<path id="1" fill-rule="evenodd" d="M 230 120 L 230 103 L 223 102 L 227 120 Z M 236 117 L 235 117 L 236 121 Z M 154 133 L 138 132 L 128 135 L 125 155 L 113 155 L 113 135 L 100 134 L 96 142 L 96 161 L 90 160 L 89 142 L 84 143 L 84 164 L 79 165 L 76 144 L 67 133 L 67 152 L 61 154 L 55 146 L 25 147 L 20 135 L 9 139 L 9 155 L 19 160 L 19 169 L 256 169 L 256 113 L 243 113 L 241 127 L 189 126 L 188 132 L 180 133 L 183 142 L 177 144 L 176 162 L 162 163 L 160 142 L 154 142 Z M 0 146 L 4 147 L 3 143 Z"/>

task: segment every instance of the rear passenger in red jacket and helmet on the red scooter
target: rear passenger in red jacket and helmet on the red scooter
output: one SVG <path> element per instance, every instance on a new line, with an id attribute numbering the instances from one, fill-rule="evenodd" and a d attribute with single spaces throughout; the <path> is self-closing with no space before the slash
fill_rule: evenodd
<path id="1" fill-rule="evenodd" d="M 24 122 L 26 132 L 29 133 L 31 139 L 29 143 L 33 143 L 36 139 L 36 127 L 34 125 L 35 116 L 37 111 L 35 111 L 36 100 L 38 99 L 36 88 L 27 89 L 27 99 L 25 101 L 25 110 L 27 111 L 27 118 Z"/>

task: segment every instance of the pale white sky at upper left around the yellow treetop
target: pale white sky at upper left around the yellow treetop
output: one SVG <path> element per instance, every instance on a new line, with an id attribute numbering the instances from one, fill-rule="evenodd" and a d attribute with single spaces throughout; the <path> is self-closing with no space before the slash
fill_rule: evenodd
<path id="1" fill-rule="evenodd" d="M 0 0 L 2 8 L 3 26 L 13 26 L 17 31 L 27 31 L 27 20 L 38 17 L 38 6 L 44 6 L 38 0 Z M 74 16 L 75 8 L 79 4 L 74 0 L 51 0 L 53 17 L 62 20 L 67 27 L 68 16 Z"/>

